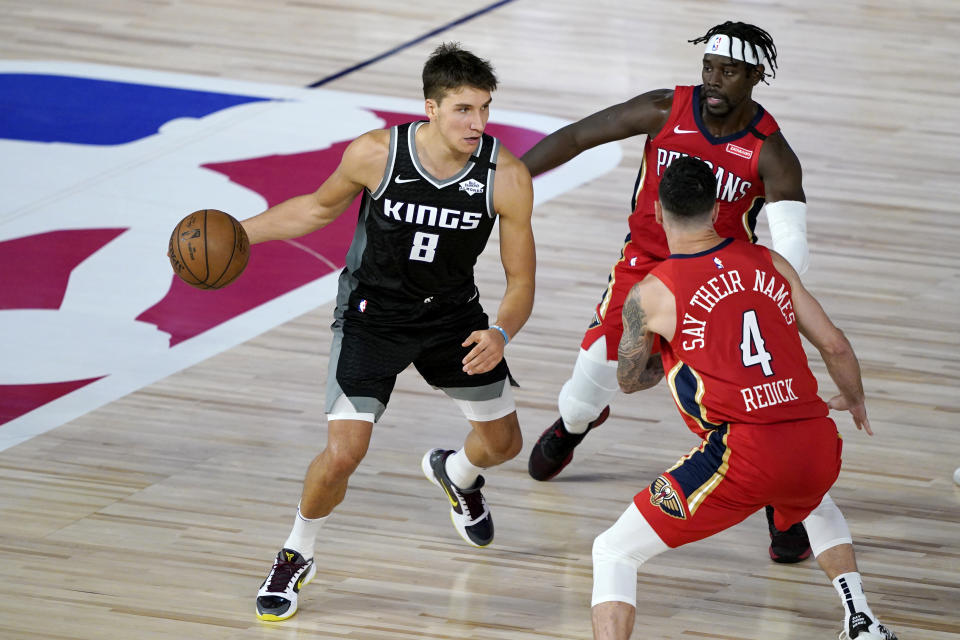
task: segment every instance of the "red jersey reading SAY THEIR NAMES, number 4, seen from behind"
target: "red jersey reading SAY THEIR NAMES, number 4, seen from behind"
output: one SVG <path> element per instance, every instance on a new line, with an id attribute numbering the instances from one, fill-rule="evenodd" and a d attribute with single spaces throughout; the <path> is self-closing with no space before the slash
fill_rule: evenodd
<path id="1" fill-rule="evenodd" d="M 677 301 L 663 370 L 687 425 L 704 436 L 724 423 L 821 418 L 826 403 L 807 365 L 790 285 L 762 246 L 727 238 L 673 255 L 656 276 Z"/>

